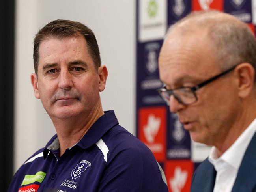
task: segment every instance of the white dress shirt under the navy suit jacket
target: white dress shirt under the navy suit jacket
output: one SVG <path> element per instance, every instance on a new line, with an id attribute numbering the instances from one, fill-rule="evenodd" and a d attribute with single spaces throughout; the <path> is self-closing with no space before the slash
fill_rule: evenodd
<path id="1" fill-rule="evenodd" d="M 212 147 L 208 159 L 217 171 L 213 192 L 232 191 L 243 156 L 255 132 L 256 119 L 220 157 L 216 148 Z"/>

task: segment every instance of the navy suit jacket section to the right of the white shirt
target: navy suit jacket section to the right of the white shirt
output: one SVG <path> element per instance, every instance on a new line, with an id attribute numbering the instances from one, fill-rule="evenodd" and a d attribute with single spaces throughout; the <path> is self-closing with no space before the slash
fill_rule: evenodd
<path id="1" fill-rule="evenodd" d="M 252 137 L 239 167 L 232 192 L 252 192 L 256 185 L 256 133 Z"/>

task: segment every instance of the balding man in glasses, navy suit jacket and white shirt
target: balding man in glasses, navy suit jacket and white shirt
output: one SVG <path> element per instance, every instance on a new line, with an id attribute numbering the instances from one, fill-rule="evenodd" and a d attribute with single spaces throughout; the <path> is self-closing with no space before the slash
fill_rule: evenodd
<path id="1" fill-rule="evenodd" d="M 168 31 L 158 89 L 195 142 L 212 145 L 191 192 L 256 191 L 256 40 L 247 24 L 194 12 Z"/>

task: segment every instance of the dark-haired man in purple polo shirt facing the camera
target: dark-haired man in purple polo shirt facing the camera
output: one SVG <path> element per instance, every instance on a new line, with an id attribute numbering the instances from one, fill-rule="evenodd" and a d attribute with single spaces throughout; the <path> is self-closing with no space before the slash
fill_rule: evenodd
<path id="1" fill-rule="evenodd" d="M 31 83 L 57 134 L 15 173 L 9 192 L 167 192 L 151 151 L 103 112 L 95 36 L 68 20 L 52 21 L 34 39 Z"/>

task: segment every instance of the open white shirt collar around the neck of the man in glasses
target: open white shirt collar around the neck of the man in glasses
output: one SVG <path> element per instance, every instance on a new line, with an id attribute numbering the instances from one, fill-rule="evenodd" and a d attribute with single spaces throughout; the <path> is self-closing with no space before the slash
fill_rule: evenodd
<path id="1" fill-rule="evenodd" d="M 213 147 L 208 157 L 211 164 L 215 165 L 216 162 L 221 159 L 238 170 L 243 160 L 245 151 L 255 132 L 256 132 L 256 119 L 254 119 L 252 123 L 250 123 L 250 125 L 245 129 L 245 131 L 237 138 L 237 140 L 235 140 L 235 142 L 220 157 L 218 157 L 217 155 L 216 148 Z"/>

